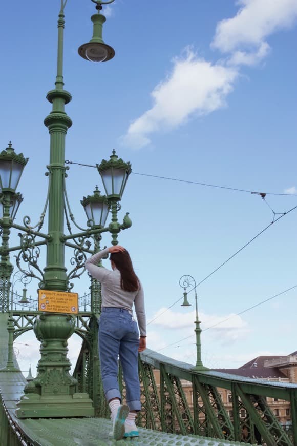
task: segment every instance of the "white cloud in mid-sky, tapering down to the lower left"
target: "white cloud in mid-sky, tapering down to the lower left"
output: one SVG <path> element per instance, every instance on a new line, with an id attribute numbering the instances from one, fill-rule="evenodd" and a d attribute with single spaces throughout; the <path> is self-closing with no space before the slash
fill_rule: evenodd
<path id="1" fill-rule="evenodd" d="M 193 114 L 205 115 L 225 105 L 237 70 L 211 64 L 190 49 L 173 60 L 171 75 L 151 93 L 154 105 L 130 124 L 121 142 L 132 148 L 150 143 L 148 135 L 175 128 Z"/>

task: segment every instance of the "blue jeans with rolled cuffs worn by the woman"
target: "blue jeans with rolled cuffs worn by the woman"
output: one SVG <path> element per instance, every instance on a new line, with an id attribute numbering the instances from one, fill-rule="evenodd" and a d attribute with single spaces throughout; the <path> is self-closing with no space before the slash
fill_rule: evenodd
<path id="1" fill-rule="evenodd" d="M 118 355 L 120 357 L 126 399 L 131 411 L 140 411 L 138 376 L 139 333 L 137 323 L 128 310 L 103 307 L 99 319 L 99 358 L 105 397 L 119 398 Z"/>

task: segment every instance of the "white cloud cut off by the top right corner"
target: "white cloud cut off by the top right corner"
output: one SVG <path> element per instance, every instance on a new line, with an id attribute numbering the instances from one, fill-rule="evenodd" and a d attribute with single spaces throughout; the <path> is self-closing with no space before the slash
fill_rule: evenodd
<path id="1" fill-rule="evenodd" d="M 259 47 L 271 33 L 292 25 L 297 17 L 296 0 L 240 0 L 237 15 L 218 23 L 212 43 L 222 52 L 241 46 Z"/>

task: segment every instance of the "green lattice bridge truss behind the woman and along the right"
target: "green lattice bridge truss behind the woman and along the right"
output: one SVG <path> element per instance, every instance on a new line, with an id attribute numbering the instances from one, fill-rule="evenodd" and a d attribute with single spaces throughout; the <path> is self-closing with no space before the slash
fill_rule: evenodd
<path id="1" fill-rule="evenodd" d="M 96 308 L 96 312 L 90 311 L 88 296 L 83 296 L 84 302 L 80 302 L 80 309 L 84 311 L 75 316 L 75 333 L 81 337 L 82 346 L 73 376 L 77 379 L 76 391 L 88 393 L 93 400 L 95 416 L 109 418 L 109 408 L 100 379 L 98 356 L 97 322 L 100 308 Z M 6 313 L 8 328 L 10 327 L 8 335 L 13 333 L 15 340 L 31 330 L 39 314 L 36 308 L 26 309 L 24 306 L 21 309 L 10 310 L 9 314 Z M 0 373 L 0 387 L 1 375 Z M 184 436 L 194 434 L 221 441 L 242 441 L 242 430 L 245 427 L 247 430 L 245 442 L 250 444 L 261 444 L 261 442 L 269 446 L 297 444 L 296 384 L 267 382 L 211 370 L 197 372 L 192 370 L 190 364 L 175 361 L 149 349 L 139 355 L 139 376 L 142 411 L 138 414 L 138 423 L 144 428 L 168 434 Z M 119 379 L 124 399 L 125 384 L 120 368 Z M 184 380 L 192 387 L 191 401 L 184 392 Z M 232 416 L 225 407 L 219 389 L 227 389 L 231 394 Z M 280 424 L 268 406 L 267 397 L 290 402 L 291 432 L 287 432 Z M 17 440 L 20 438 L 20 434 L 17 434 L 18 424 L 15 420 L 13 423 L 9 422 L 4 398 L 2 400 L 2 418 L 6 420 L 7 432 L 16 441 L 11 444 L 20 444 Z M 243 411 L 244 418 L 241 416 Z M 0 430 L 0 438 L 1 435 Z"/>

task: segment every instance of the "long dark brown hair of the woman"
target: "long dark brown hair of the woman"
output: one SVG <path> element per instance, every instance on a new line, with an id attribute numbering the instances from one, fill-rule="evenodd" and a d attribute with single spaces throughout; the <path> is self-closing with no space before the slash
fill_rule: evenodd
<path id="1" fill-rule="evenodd" d="M 110 255 L 116 268 L 121 273 L 121 289 L 124 291 L 137 291 L 140 283 L 134 272 L 131 257 L 127 250 L 123 252 L 114 252 Z"/>

